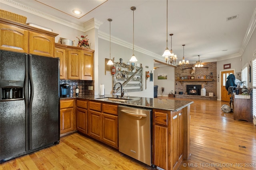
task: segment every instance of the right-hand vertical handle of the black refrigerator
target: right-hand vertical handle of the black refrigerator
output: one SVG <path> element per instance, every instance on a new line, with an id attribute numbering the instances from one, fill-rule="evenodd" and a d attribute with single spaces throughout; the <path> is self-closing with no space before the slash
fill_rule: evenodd
<path id="1" fill-rule="evenodd" d="M 30 97 L 29 97 L 29 149 L 32 149 L 32 102 L 34 97 L 34 84 L 32 80 L 32 55 L 28 55 L 29 58 L 29 83 L 30 83 Z"/>

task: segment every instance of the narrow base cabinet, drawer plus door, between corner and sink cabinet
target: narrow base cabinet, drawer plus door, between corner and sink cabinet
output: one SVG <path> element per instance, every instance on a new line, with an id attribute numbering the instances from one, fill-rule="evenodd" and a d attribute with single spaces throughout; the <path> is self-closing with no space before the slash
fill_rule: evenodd
<path id="1" fill-rule="evenodd" d="M 87 101 L 76 100 L 76 129 L 83 134 L 88 132 L 87 104 Z"/>

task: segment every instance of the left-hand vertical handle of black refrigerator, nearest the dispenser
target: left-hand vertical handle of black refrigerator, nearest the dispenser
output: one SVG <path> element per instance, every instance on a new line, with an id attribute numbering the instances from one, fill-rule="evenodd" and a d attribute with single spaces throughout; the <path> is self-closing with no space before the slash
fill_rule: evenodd
<path id="1" fill-rule="evenodd" d="M 26 141 L 28 141 L 29 136 L 29 129 L 28 129 L 28 123 L 29 123 L 29 116 L 28 116 L 28 54 L 25 54 L 25 79 L 24 79 L 24 102 L 25 102 L 25 124 L 26 124 Z M 29 150 L 28 142 L 26 142 L 26 151 Z"/>

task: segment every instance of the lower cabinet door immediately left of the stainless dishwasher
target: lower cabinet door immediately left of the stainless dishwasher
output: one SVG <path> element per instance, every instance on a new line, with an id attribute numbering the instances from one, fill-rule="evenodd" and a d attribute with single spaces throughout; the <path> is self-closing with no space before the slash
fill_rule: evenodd
<path id="1" fill-rule="evenodd" d="M 118 116 L 102 113 L 102 141 L 118 147 Z"/>

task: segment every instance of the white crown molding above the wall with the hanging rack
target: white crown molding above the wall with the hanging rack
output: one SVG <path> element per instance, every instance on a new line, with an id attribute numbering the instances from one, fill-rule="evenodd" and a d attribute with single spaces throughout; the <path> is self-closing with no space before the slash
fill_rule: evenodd
<path id="1" fill-rule="evenodd" d="M 104 40 L 106 40 L 106 41 L 109 41 L 109 34 L 103 32 L 103 31 L 99 31 L 99 32 L 98 32 L 98 38 L 101 38 L 101 39 L 104 39 Z M 132 44 L 132 43 L 129 43 L 129 42 L 127 42 L 127 41 L 124 41 L 124 40 L 119 39 L 119 38 L 114 37 L 114 36 L 111 36 L 111 42 L 112 42 L 112 43 L 115 43 L 115 44 L 118 44 L 118 45 L 121 45 L 121 46 L 123 46 L 123 47 L 126 47 L 126 48 L 128 48 L 128 49 L 133 49 L 133 44 Z M 160 55 L 158 55 L 158 54 L 156 54 L 156 53 L 152 53 L 151 51 L 148 51 L 148 50 L 143 49 L 143 48 L 141 48 L 141 47 L 138 47 L 138 46 L 136 46 L 136 45 L 134 45 L 134 50 L 135 50 L 135 51 L 138 51 L 138 52 L 140 52 L 140 53 L 142 53 L 142 54 L 145 54 L 145 55 L 154 57 L 154 58 L 156 58 L 156 59 L 158 59 L 158 60 L 164 61 L 164 59 L 163 59 L 162 56 L 160 56 Z M 165 62 L 165 61 L 164 61 L 164 62 Z"/>

